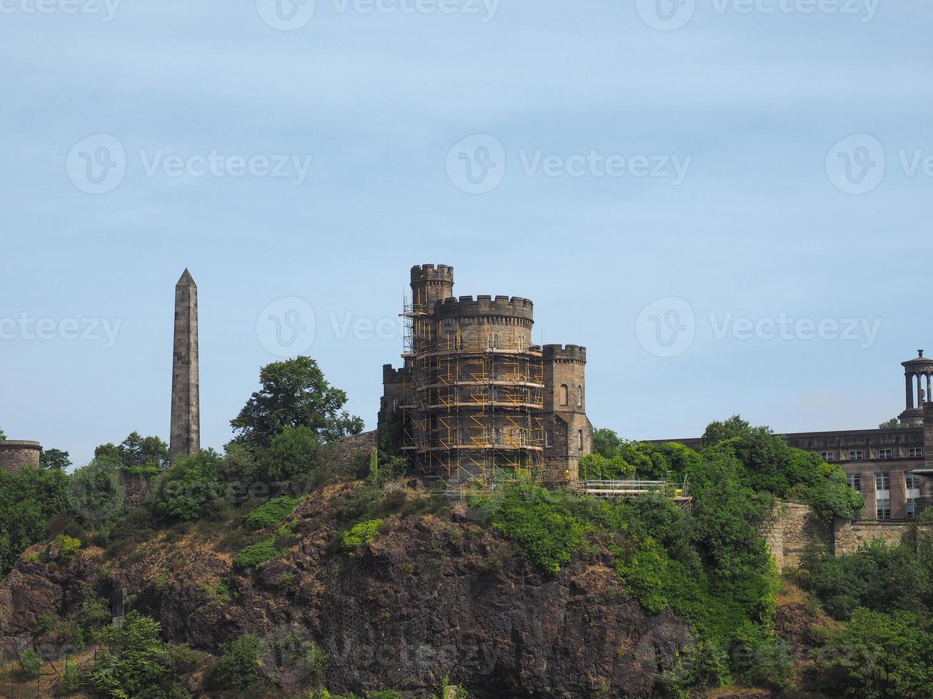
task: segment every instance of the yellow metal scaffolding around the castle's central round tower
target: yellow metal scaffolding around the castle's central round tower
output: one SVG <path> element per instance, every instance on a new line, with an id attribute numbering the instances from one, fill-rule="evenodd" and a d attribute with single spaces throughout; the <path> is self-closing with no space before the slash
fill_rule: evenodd
<path id="1" fill-rule="evenodd" d="M 544 469 L 544 379 L 540 347 L 516 333 L 432 338 L 423 310 L 407 305 L 406 361 L 413 400 L 404 449 L 421 473 L 446 487 L 492 487 Z M 426 321 L 426 322 L 425 322 Z M 404 407 L 404 406 L 403 406 Z"/>

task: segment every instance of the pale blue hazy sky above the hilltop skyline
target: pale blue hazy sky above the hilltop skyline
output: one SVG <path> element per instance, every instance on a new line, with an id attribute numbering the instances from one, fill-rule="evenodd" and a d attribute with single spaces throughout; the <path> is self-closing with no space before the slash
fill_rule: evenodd
<path id="1" fill-rule="evenodd" d="M 919 0 L 0 0 L 0 428 L 202 446 L 308 354 L 375 427 L 412 265 L 535 301 L 627 438 L 873 428 L 933 353 Z"/>

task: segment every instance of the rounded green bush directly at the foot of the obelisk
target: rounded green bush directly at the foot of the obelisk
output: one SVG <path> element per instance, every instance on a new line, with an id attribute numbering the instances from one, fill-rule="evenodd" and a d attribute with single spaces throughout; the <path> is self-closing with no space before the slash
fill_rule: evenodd
<path id="1" fill-rule="evenodd" d="M 183 522 L 216 514 L 231 495 L 230 486 L 222 479 L 222 464 L 214 449 L 175 459 L 160 479 L 153 500 L 156 513 Z"/>

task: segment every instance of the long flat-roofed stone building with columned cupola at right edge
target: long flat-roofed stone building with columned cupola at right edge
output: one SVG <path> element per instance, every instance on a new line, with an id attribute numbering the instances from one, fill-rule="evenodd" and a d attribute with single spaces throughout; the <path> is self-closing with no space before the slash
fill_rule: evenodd
<path id="1" fill-rule="evenodd" d="M 863 520 L 909 520 L 920 508 L 933 504 L 933 360 L 923 356 L 923 349 L 917 355 L 901 363 L 907 407 L 899 416 L 900 427 L 785 435 L 788 445 L 842 467 L 849 486 L 865 498 Z M 701 446 L 699 438 L 663 441 L 694 449 Z"/>

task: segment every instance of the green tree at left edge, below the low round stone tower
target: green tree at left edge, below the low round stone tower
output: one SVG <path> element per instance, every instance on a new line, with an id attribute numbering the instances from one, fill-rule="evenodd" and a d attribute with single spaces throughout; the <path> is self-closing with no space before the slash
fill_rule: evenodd
<path id="1" fill-rule="evenodd" d="M 67 508 L 67 483 L 61 471 L 0 469 L 0 577 L 23 551 L 49 536 L 49 520 Z"/>

